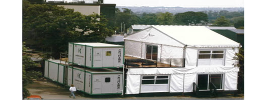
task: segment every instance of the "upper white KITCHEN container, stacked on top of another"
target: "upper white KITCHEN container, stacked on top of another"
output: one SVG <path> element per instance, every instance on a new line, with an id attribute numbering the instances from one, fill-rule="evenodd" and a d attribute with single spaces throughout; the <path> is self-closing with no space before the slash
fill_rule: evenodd
<path id="1" fill-rule="evenodd" d="M 89 68 L 122 67 L 124 46 L 99 42 L 69 43 L 69 62 Z"/>

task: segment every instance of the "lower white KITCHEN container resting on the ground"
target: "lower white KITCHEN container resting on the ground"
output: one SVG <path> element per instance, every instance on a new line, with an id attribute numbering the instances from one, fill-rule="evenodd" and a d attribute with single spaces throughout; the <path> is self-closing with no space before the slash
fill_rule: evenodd
<path id="1" fill-rule="evenodd" d="M 108 68 L 81 68 L 68 66 L 68 86 L 90 95 L 121 94 L 122 72 Z"/>

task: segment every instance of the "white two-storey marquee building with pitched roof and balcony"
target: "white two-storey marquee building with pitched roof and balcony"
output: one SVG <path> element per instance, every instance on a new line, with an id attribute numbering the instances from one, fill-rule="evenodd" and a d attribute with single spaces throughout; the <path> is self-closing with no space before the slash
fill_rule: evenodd
<path id="1" fill-rule="evenodd" d="M 127 64 L 125 58 L 126 94 L 193 92 L 195 87 L 237 90 L 239 68 L 233 65 L 238 63 L 233 57 L 240 44 L 207 27 L 153 25 L 127 35 L 124 41 L 125 56 L 146 60 Z M 154 62 L 154 68 L 144 67 Z"/>

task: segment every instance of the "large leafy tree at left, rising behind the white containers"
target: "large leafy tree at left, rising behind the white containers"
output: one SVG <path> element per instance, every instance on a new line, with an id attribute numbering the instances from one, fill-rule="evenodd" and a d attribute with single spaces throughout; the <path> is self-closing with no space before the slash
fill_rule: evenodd
<path id="1" fill-rule="evenodd" d="M 42 48 L 52 49 L 54 58 L 68 49 L 68 42 L 104 42 L 113 31 L 98 14 L 83 15 L 50 4 L 30 4 L 23 10 L 23 35 L 30 34 Z"/>

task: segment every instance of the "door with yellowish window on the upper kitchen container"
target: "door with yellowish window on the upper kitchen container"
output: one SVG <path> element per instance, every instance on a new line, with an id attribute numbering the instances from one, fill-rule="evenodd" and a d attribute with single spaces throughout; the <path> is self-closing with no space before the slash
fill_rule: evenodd
<path id="1" fill-rule="evenodd" d="M 103 50 L 103 64 L 104 67 L 114 66 L 114 50 Z"/>

